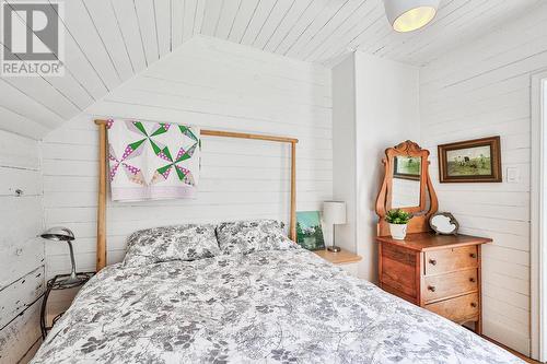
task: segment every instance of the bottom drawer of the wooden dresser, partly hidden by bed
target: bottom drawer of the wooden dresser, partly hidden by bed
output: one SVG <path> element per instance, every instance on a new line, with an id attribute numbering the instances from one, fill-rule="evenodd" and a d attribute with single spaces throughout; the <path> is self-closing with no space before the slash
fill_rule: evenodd
<path id="1" fill-rule="evenodd" d="M 477 319 L 479 316 L 478 293 L 441 301 L 424 307 L 442 317 L 463 324 L 467 320 Z"/>

